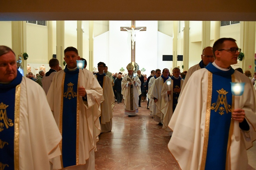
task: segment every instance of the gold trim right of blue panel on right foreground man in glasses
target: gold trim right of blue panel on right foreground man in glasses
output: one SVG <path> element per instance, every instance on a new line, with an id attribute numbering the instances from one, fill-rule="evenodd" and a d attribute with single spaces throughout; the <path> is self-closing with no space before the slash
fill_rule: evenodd
<path id="1" fill-rule="evenodd" d="M 231 81 L 235 82 L 234 74 L 231 75 Z M 226 169 L 228 168 L 228 163 L 229 163 L 229 167 L 231 167 L 231 165 L 230 165 L 231 158 L 228 157 L 228 156 L 230 156 L 229 152 L 230 152 L 230 145 L 231 145 L 231 137 L 232 137 L 232 134 L 234 132 L 234 120 L 232 119 L 233 111 L 234 111 L 234 95 L 232 95 L 232 106 L 231 106 L 231 117 L 230 117 L 231 122 L 230 122 L 229 133 L 228 133 L 228 145 L 227 145 L 227 155 L 226 155 Z"/>

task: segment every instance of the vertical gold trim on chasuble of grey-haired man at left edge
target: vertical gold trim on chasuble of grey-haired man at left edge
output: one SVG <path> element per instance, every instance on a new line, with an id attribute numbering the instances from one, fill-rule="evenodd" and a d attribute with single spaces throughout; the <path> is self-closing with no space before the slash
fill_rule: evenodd
<path id="1" fill-rule="evenodd" d="M 19 103 L 20 103 L 20 84 L 15 90 L 14 108 L 14 169 L 19 169 Z"/>

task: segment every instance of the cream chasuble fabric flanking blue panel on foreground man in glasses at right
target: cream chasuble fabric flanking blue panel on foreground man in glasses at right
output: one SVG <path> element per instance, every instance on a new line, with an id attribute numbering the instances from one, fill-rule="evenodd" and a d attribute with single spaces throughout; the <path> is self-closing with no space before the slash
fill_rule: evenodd
<path id="1" fill-rule="evenodd" d="M 238 124 L 233 125 L 227 168 L 240 170 L 246 169 L 248 165 L 246 149 L 252 147 L 252 142 L 256 139 L 256 93 L 246 76 L 237 70 L 233 74 L 234 82 L 245 82 L 243 95 L 236 96 L 234 103 L 237 103 L 237 106 L 234 107 L 244 109 L 245 119 L 250 125 L 249 134 L 241 130 Z M 173 134 L 168 148 L 181 169 L 200 169 L 202 159 L 206 157 L 202 151 L 209 89 L 208 75 L 209 71 L 205 68 L 193 73 L 169 123 Z M 188 100 L 197 102 L 190 104 Z"/>

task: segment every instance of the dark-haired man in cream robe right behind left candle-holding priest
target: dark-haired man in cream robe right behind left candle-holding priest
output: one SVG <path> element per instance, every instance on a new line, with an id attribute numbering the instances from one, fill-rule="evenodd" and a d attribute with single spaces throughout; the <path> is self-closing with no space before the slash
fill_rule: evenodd
<path id="1" fill-rule="evenodd" d="M 98 70 L 95 77 L 97 78 L 100 86 L 103 88 L 103 98 L 101 105 L 101 115 L 100 115 L 100 127 L 101 133 L 110 132 L 112 130 L 112 117 L 113 108 L 115 106 L 115 99 L 113 88 L 111 84 L 111 79 L 106 76 L 103 72 L 106 64 L 103 62 L 98 63 Z"/>

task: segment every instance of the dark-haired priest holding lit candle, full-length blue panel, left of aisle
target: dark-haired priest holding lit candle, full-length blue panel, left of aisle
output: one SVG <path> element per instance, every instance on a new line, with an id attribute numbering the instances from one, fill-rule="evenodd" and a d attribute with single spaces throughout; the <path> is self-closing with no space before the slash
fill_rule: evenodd
<path id="1" fill-rule="evenodd" d="M 102 88 L 89 70 L 79 64 L 74 47 L 64 50 L 65 69 L 57 72 L 47 100 L 62 135 L 61 156 L 53 169 L 95 169 L 94 151 L 100 134 Z"/>

